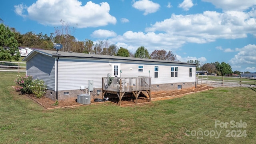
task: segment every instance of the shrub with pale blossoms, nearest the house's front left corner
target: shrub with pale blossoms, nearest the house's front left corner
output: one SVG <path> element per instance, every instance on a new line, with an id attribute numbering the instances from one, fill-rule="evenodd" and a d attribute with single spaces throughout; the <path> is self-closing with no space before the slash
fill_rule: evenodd
<path id="1" fill-rule="evenodd" d="M 29 86 L 36 98 L 42 98 L 46 93 L 46 85 L 44 85 L 43 80 L 35 79 L 32 80 L 31 85 Z"/>

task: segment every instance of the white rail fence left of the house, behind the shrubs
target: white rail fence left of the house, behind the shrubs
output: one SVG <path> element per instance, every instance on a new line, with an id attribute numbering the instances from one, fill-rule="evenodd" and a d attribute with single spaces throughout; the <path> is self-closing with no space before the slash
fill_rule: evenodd
<path id="1" fill-rule="evenodd" d="M 22 65 L 22 66 L 20 66 Z M 26 72 L 26 62 L 6 62 L 0 61 L 0 71 L 2 72 Z"/>

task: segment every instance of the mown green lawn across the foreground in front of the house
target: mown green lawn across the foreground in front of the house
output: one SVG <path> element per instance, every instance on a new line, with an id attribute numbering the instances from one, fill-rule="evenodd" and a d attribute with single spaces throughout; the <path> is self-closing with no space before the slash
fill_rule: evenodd
<path id="1" fill-rule="evenodd" d="M 14 91 L 17 73 L 0 75 L 0 143 L 256 143 L 254 88 L 214 88 L 132 107 L 104 103 L 45 110 Z M 247 127 L 215 128 L 215 120 L 242 120 Z M 219 138 L 206 136 L 207 132 L 202 138 L 192 136 L 201 129 L 221 134 Z M 247 136 L 226 138 L 227 130 L 233 130 L 232 136 L 234 130 L 246 130 Z"/>

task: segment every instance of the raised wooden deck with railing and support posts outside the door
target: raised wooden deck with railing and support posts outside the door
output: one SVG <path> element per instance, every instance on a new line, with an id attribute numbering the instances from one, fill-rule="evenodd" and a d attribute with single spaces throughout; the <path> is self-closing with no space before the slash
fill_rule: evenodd
<path id="1" fill-rule="evenodd" d="M 117 94 L 120 106 L 126 92 L 132 92 L 137 103 L 138 96 L 144 91 L 151 101 L 150 90 L 151 77 L 102 77 L 102 96 L 106 93 Z"/>

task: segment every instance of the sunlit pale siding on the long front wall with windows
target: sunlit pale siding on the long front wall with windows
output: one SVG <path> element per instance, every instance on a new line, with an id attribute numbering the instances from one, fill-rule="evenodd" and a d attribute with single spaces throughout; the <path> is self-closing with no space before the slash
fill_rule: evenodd
<path id="1" fill-rule="evenodd" d="M 89 80 L 94 81 L 94 88 L 101 88 L 102 77 L 112 74 L 112 64 L 120 64 L 121 77 L 151 76 L 151 84 L 196 81 L 195 66 L 60 58 L 58 60 L 58 90 L 78 90 L 80 86 L 88 87 Z M 139 65 L 143 65 L 143 72 L 138 72 Z M 155 66 L 159 67 L 158 78 L 154 78 Z M 171 66 L 178 67 L 178 77 L 171 77 Z M 189 76 L 189 68 L 192 68 L 192 77 Z"/>

